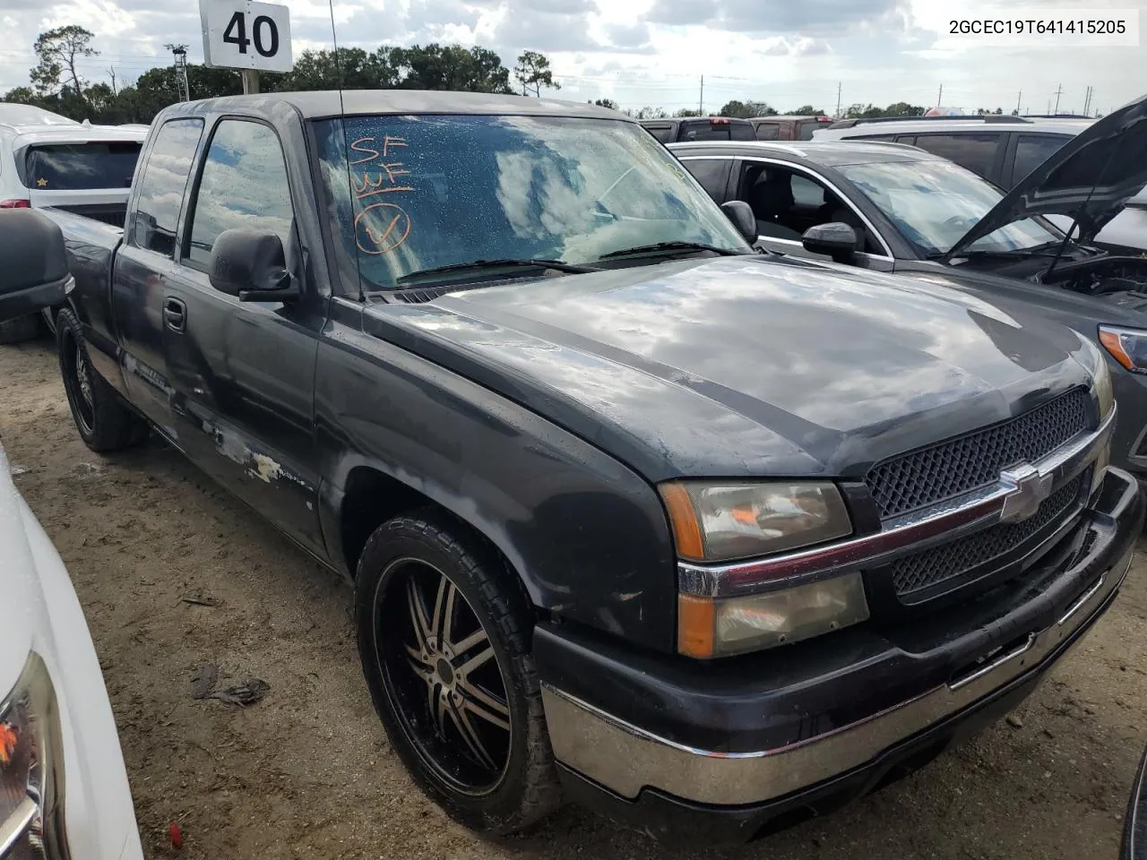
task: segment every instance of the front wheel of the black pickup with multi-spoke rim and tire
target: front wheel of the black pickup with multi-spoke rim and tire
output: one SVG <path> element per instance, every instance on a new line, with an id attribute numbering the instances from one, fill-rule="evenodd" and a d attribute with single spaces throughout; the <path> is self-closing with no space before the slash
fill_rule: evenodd
<path id="1" fill-rule="evenodd" d="M 556 808 L 530 604 L 497 553 L 436 510 L 396 517 L 362 550 L 354 603 L 375 710 L 422 791 L 459 823 L 490 834 L 521 830 Z M 420 617 L 429 635 L 418 632 Z"/>

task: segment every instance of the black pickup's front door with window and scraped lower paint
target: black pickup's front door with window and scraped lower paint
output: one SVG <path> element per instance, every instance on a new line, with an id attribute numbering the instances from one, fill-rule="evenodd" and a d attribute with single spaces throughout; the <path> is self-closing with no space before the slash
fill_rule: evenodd
<path id="1" fill-rule="evenodd" d="M 325 302 L 240 302 L 211 286 L 226 229 L 275 233 L 304 291 L 291 183 L 275 131 L 226 118 L 188 198 L 178 272 L 164 284 L 164 358 L 173 421 L 201 468 L 310 549 L 322 553 L 313 437 L 314 361 Z"/>

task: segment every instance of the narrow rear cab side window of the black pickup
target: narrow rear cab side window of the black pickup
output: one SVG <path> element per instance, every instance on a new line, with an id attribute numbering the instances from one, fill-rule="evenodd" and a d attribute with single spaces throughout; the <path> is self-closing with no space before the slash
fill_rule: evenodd
<path id="1" fill-rule="evenodd" d="M 202 134 L 202 119 L 170 119 L 156 132 L 140 174 L 127 236 L 131 244 L 174 257 L 179 208 Z"/>

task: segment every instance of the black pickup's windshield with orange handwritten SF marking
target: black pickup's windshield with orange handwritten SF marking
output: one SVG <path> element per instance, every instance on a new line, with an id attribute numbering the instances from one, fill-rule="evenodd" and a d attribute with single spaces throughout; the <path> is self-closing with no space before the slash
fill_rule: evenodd
<path id="1" fill-rule="evenodd" d="M 372 116 L 321 120 L 315 131 L 343 242 L 379 288 L 476 260 L 584 265 L 661 242 L 749 251 L 633 123 Z"/>

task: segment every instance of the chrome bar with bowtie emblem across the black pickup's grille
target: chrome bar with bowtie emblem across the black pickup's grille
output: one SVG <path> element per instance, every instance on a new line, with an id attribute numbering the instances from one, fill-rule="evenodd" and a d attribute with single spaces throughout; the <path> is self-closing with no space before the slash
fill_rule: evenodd
<path id="1" fill-rule="evenodd" d="M 1035 479 L 1046 495 L 1076 477 L 1110 444 L 1115 412 L 1113 408 L 1098 430 L 1078 436 L 1022 472 L 1004 472 L 990 486 L 915 514 L 889 519 L 879 532 L 768 558 L 715 565 L 681 562 L 677 565 L 678 587 L 685 594 L 711 597 L 759 593 L 771 587 L 790 587 L 860 568 L 887 564 L 898 556 L 1014 521 L 1017 507 L 1030 515 L 1035 513 L 1032 508 L 1017 505 L 1027 488 L 1021 487 L 1019 482 Z"/>

